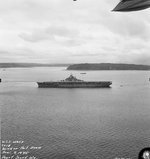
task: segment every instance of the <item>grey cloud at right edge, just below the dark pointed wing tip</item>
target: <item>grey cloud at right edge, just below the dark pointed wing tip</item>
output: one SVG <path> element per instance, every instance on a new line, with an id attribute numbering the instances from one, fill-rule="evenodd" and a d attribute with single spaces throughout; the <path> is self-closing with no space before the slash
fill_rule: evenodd
<path id="1" fill-rule="evenodd" d="M 106 16 L 97 23 L 104 25 L 109 31 L 121 37 L 150 39 L 149 22 L 143 17 L 129 15 Z"/>

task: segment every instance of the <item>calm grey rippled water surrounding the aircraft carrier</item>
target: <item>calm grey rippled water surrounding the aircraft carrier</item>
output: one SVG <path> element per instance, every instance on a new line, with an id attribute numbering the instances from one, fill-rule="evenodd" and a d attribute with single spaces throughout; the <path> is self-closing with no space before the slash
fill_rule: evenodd
<path id="1" fill-rule="evenodd" d="M 136 159 L 150 146 L 150 72 L 72 71 L 83 80 L 110 80 L 110 89 L 39 89 L 34 82 L 70 73 L 61 67 L 1 70 L 2 140 L 42 146 L 31 152 L 38 159 Z"/>

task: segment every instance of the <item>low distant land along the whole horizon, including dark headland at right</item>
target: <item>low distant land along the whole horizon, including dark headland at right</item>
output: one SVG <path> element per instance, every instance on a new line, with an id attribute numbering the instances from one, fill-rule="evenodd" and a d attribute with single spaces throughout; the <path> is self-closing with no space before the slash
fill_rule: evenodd
<path id="1" fill-rule="evenodd" d="M 0 63 L 0 68 L 66 67 L 71 71 L 149 71 L 150 65 L 122 63 L 81 63 L 81 64 L 42 64 L 42 63 Z"/>

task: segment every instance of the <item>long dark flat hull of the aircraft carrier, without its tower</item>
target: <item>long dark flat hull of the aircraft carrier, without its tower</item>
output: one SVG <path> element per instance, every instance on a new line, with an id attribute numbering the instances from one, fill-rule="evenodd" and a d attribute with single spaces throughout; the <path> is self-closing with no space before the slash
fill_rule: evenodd
<path id="1" fill-rule="evenodd" d="M 112 82 L 37 82 L 39 88 L 109 88 Z"/>

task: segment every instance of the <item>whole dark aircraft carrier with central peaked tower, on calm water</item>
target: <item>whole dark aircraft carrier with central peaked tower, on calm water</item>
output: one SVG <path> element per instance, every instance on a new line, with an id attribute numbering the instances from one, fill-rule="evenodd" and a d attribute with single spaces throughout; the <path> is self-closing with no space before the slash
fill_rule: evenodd
<path id="1" fill-rule="evenodd" d="M 83 81 L 70 75 L 58 82 L 37 82 L 39 88 L 109 88 L 111 81 Z"/>

